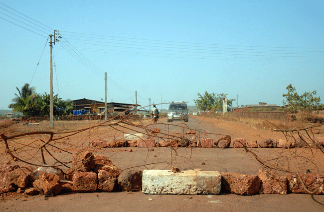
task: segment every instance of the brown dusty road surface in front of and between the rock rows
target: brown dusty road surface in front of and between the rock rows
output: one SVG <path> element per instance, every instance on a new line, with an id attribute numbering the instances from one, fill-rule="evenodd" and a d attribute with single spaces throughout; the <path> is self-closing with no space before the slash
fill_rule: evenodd
<path id="1" fill-rule="evenodd" d="M 166 119 L 160 119 L 166 123 Z M 57 129 L 62 129 L 60 122 L 55 123 Z M 157 125 L 161 130 L 176 131 L 181 130 L 178 126 Z M 203 136 L 216 139 L 220 135 L 230 134 L 232 138 L 244 137 L 248 139 L 259 140 L 261 138 L 281 138 L 283 135 L 278 132 L 269 130 L 255 129 L 246 123 L 236 123 L 221 121 L 212 118 L 202 120 L 198 117 L 190 117 L 187 126 L 191 129 L 200 129 L 206 131 Z M 63 124 L 64 125 L 64 124 Z M 42 125 L 30 126 L 42 129 Z M 60 128 L 61 127 L 61 128 Z M 64 125 L 67 128 L 66 125 Z M 93 132 L 92 136 L 105 137 L 106 129 Z M 214 133 L 214 134 L 210 134 Z M 86 133 L 85 133 L 86 134 Z M 75 140 L 85 140 L 85 134 L 78 135 L 79 137 L 71 138 Z M 319 135 L 323 136 L 323 135 Z M 112 162 L 122 170 L 128 168 L 134 169 L 169 169 L 170 166 L 177 166 L 180 170 L 202 169 L 205 171 L 219 172 L 234 172 L 242 174 L 257 174 L 261 168 L 259 162 L 251 154 L 241 148 L 178 148 L 176 151 L 170 148 L 155 148 L 155 151 L 148 151 L 147 148 L 109 148 L 96 150 L 95 154 L 103 154 L 110 158 Z M 283 150 L 279 149 L 255 149 L 254 150 L 262 158 L 276 157 L 284 154 Z M 287 153 L 287 152 L 286 152 Z M 59 157 L 62 152 L 55 152 Z M 3 159 L 3 157 L 1 158 Z M 319 156 L 319 160 L 323 161 L 324 157 Z M 70 160 L 65 157 L 64 160 Z M 205 164 L 202 165 L 201 163 Z M 285 166 L 285 162 L 281 162 Z M 316 167 L 311 164 L 299 164 L 301 167 L 310 168 L 317 172 Z M 320 167 L 319 172 L 323 173 L 323 167 Z M 257 194 L 254 196 L 239 196 L 234 194 L 221 195 L 146 195 L 142 192 L 113 192 L 113 193 L 78 193 L 78 194 L 62 194 L 53 198 L 44 199 L 43 196 L 26 197 L 19 195 L 11 198 L 0 199 L 0 211 L 118 211 L 118 212 L 152 212 L 152 211 L 225 211 L 225 212 L 305 212 L 305 211 L 324 211 L 324 196 L 289 194 L 289 195 L 264 195 Z"/>

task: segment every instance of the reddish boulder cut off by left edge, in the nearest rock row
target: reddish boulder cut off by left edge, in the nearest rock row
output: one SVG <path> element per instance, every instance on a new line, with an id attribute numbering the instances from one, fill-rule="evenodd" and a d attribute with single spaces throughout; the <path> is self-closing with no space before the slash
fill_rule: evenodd
<path id="1" fill-rule="evenodd" d="M 10 181 L 10 174 L 17 168 L 18 166 L 15 165 L 0 165 L 0 194 L 14 190 Z"/>

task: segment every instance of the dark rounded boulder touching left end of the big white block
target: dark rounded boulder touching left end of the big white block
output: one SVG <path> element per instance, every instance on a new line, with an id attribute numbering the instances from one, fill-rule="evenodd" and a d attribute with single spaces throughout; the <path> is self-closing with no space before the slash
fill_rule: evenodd
<path id="1" fill-rule="evenodd" d="M 118 176 L 119 187 L 127 192 L 142 190 L 142 175 L 139 170 L 125 170 Z"/>

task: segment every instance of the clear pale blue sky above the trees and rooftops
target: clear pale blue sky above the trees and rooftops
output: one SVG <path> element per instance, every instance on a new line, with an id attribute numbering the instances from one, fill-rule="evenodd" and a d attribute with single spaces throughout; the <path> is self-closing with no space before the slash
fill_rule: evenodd
<path id="1" fill-rule="evenodd" d="M 29 83 L 63 100 L 153 103 L 225 93 L 324 100 L 324 0 L 0 0 L 0 109 Z M 39 65 L 37 66 L 37 64 Z M 55 64 L 55 66 L 54 66 Z M 233 106 L 237 106 L 236 102 Z M 158 106 L 160 108 L 161 106 Z M 162 106 L 166 108 L 166 106 Z"/>

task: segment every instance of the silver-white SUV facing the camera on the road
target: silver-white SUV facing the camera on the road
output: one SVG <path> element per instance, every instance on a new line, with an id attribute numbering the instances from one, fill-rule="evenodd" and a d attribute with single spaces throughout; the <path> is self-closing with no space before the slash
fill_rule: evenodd
<path id="1" fill-rule="evenodd" d="M 185 122 L 189 119 L 188 107 L 185 102 L 172 102 L 168 108 L 166 115 L 167 122 L 173 120 L 184 120 Z"/>

